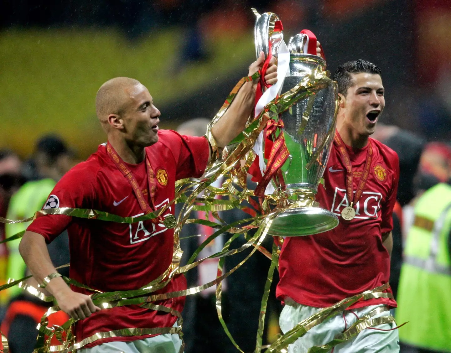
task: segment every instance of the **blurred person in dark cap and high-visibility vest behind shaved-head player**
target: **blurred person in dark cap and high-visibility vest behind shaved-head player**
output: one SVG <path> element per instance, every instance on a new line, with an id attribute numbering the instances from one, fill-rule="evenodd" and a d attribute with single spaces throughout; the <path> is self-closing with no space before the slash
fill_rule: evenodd
<path id="1" fill-rule="evenodd" d="M 44 136 L 36 145 L 34 163 L 40 179 L 28 181 L 11 197 L 6 218 L 23 220 L 32 217 L 39 211 L 47 200 L 48 195 L 58 180 L 71 167 L 71 152 L 65 142 L 56 136 Z M 5 226 L 6 238 L 27 229 L 31 222 L 7 224 Z M 7 244 L 9 250 L 7 278 L 18 280 L 25 275 L 25 262 L 20 256 L 18 246 L 20 239 Z M 69 239 L 67 232 L 57 237 L 49 244 L 49 252 L 54 253 L 55 266 L 64 265 L 69 261 Z M 63 275 L 69 275 L 67 269 L 61 270 Z M 18 287 L 9 289 L 9 296 L 21 293 Z"/>

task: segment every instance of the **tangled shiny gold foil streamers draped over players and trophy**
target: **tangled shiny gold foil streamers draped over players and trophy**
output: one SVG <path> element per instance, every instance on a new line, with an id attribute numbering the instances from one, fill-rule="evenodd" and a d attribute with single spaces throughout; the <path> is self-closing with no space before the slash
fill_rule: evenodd
<path id="1" fill-rule="evenodd" d="M 264 323 L 264 317 L 266 313 L 266 307 L 267 307 L 267 298 L 269 296 L 269 289 L 271 287 L 272 282 L 272 274 L 274 272 L 274 269 L 277 267 L 277 251 L 276 248 L 273 247 L 272 254 L 266 251 L 266 249 L 261 247 L 262 241 L 265 239 L 267 235 L 267 231 L 271 225 L 272 219 L 274 216 L 277 215 L 277 213 L 280 211 L 277 208 L 277 202 L 276 199 L 272 195 L 265 195 L 265 198 L 262 200 L 260 206 L 258 206 L 257 210 L 260 215 L 251 217 L 247 220 L 241 220 L 237 221 L 235 223 L 232 223 L 230 225 L 218 225 L 216 223 L 213 224 L 213 222 L 210 222 L 208 220 L 199 220 L 199 219 L 189 219 L 190 213 L 193 210 L 203 210 L 203 211 L 212 211 L 215 218 L 220 221 L 219 215 L 217 214 L 218 211 L 224 211 L 232 208 L 242 208 L 246 209 L 248 207 L 242 206 L 243 201 L 248 201 L 249 203 L 253 204 L 253 200 L 251 197 L 253 196 L 253 191 L 249 190 L 246 186 L 246 173 L 249 166 L 252 164 L 253 161 L 253 152 L 252 152 L 252 146 L 255 143 L 256 139 L 258 138 L 259 133 L 262 131 L 262 128 L 266 126 L 266 122 L 269 119 L 273 119 L 277 117 L 279 114 L 281 114 L 283 111 L 289 109 L 292 105 L 294 105 L 297 101 L 305 99 L 307 97 L 313 96 L 316 92 L 319 92 L 323 88 L 327 87 L 329 84 L 331 84 L 330 78 L 327 77 L 327 73 L 323 72 L 321 70 L 314 70 L 312 72 L 312 75 L 310 77 L 302 82 L 300 82 L 296 87 L 292 88 L 290 91 L 285 92 L 282 94 L 276 101 L 273 101 L 269 103 L 266 106 L 266 109 L 262 111 L 262 113 L 258 116 L 257 119 L 249 119 L 248 124 L 246 125 L 245 130 L 243 133 L 240 133 L 237 138 L 235 138 L 229 146 L 224 148 L 224 150 L 220 153 L 219 149 L 216 146 L 216 142 L 214 141 L 214 138 L 211 135 L 211 126 L 216 123 L 219 118 L 221 118 L 222 115 L 224 115 L 226 109 L 230 105 L 230 103 L 233 101 L 233 99 L 236 96 L 236 93 L 238 92 L 239 88 L 244 84 L 246 81 L 250 81 L 252 79 L 258 78 L 260 73 L 256 73 L 253 75 L 253 77 L 243 78 L 240 80 L 240 82 L 234 87 L 230 95 L 227 97 L 226 102 L 221 107 L 221 110 L 218 112 L 218 114 L 213 118 L 212 123 L 209 125 L 208 131 L 207 131 L 207 138 L 210 142 L 210 145 L 212 146 L 212 163 L 207 167 L 206 173 L 204 174 L 204 179 L 202 180 L 194 180 L 190 181 L 187 179 L 184 179 L 180 181 L 176 185 L 176 195 L 174 200 L 170 202 L 169 205 L 166 205 L 165 207 L 156 210 L 155 212 L 152 212 L 148 215 L 143 215 L 139 217 L 120 217 L 117 215 L 111 215 L 107 212 L 102 211 L 96 211 L 96 210 L 89 210 L 89 209 L 74 209 L 74 208 L 67 208 L 62 207 L 58 209 L 49 209 L 49 210 L 41 210 L 37 211 L 36 214 L 27 219 L 22 221 L 14 221 L 14 220 L 6 220 L 4 218 L 0 218 L 0 222 L 3 223 L 18 223 L 18 222 L 26 222 L 35 219 L 38 216 L 46 215 L 46 214 L 63 214 L 63 215 L 69 215 L 74 217 L 81 217 L 81 218 L 87 218 L 87 219 L 96 219 L 96 220 L 107 220 L 107 221 L 113 221 L 118 223 L 134 223 L 141 220 L 148 220 L 157 218 L 158 215 L 161 215 L 164 211 L 166 211 L 167 207 L 169 207 L 174 202 L 183 202 L 184 206 L 182 208 L 182 211 L 180 212 L 179 219 L 177 222 L 177 225 L 174 230 L 174 245 L 173 245 L 173 259 L 172 263 L 169 266 L 169 268 L 160 275 L 157 279 L 153 280 L 151 283 L 147 284 L 141 289 L 138 290 L 131 290 L 131 291 L 118 291 L 118 292 L 110 292 L 110 293 L 100 293 L 100 291 L 96 291 L 94 289 L 90 289 L 89 287 L 85 286 L 84 284 L 78 283 L 72 279 L 64 278 L 67 283 L 74 284 L 75 286 L 87 288 L 90 289 L 93 292 L 97 292 L 92 294 L 92 300 L 93 302 L 104 308 L 110 308 L 110 307 L 119 307 L 123 305 L 131 305 L 131 304 L 137 304 L 141 305 L 143 307 L 148 307 L 152 310 L 160 310 L 163 312 L 171 312 L 172 315 L 177 316 L 178 318 L 178 327 L 171 327 L 171 328 L 154 328 L 154 329 L 146 329 L 146 328 L 131 328 L 131 329 L 123 329 L 123 330 L 116 330 L 116 331 L 110 331 L 110 332 L 99 332 L 96 335 L 93 335 L 91 337 L 88 337 L 86 339 L 83 339 L 83 341 L 76 343 L 75 337 L 72 333 L 72 325 L 74 324 L 74 320 L 70 319 L 64 325 L 61 325 L 60 327 L 56 328 L 48 328 L 48 319 L 47 316 L 50 315 L 53 312 L 56 312 L 59 310 L 58 307 L 51 307 L 46 312 L 46 314 L 42 317 L 41 323 L 38 325 L 39 335 L 37 338 L 37 346 L 35 349 L 35 352 L 37 353 L 48 353 L 48 352 L 61 352 L 61 353 L 68 353 L 73 351 L 74 349 L 82 348 L 84 345 L 95 342 L 98 339 L 106 338 L 106 337 L 119 337 L 119 336 L 130 336 L 130 335 L 147 335 L 147 334 L 164 334 L 164 333 L 170 333 L 170 334 L 179 334 L 181 337 L 181 330 L 182 330 L 182 321 L 181 317 L 179 316 L 178 312 L 175 312 L 171 308 L 167 308 L 164 306 L 158 306 L 153 304 L 152 302 L 156 300 L 162 300 L 167 298 L 175 298 L 179 296 L 185 296 L 190 295 L 194 293 L 198 293 L 206 288 L 209 288 L 213 285 L 217 285 L 216 287 L 216 309 L 218 312 L 218 316 L 220 317 L 221 324 L 224 326 L 227 335 L 229 338 L 234 342 L 235 347 L 240 349 L 238 345 L 235 343 L 233 337 L 230 335 L 230 332 L 226 328 L 226 325 L 224 323 L 224 320 L 221 316 L 221 280 L 231 275 L 235 270 L 237 270 L 242 264 L 249 259 L 250 256 L 253 255 L 253 253 L 257 250 L 265 253 L 267 257 L 271 257 L 272 264 L 270 266 L 270 270 L 268 273 L 267 283 L 265 284 L 265 291 L 262 298 L 262 304 L 261 304 L 261 313 L 259 317 L 259 326 L 258 326 L 258 335 L 257 335 L 257 347 L 256 352 L 260 352 L 262 349 L 261 341 L 262 341 L 262 332 L 263 332 L 263 323 Z M 322 148 L 321 148 L 322 149 Z M 321 150 L 318 149 L 318 150 Z M 241 166 L 239 165 L 239 160 L 241 160 Z M 211 183 L 216 180 L 218 177 L 226 175 L 226 180 L 223 183 L 221 188 L 214 188 L 211 186 Z M 238 185 L 242 191 L 239 191 L 235 185 Z M 185 195 L 185 192 L 188 188 L 192 188 L 193 191 L 189 196 Z M 202 195 L 202 196 L 200 196 Z M 224 197 L 229 197 L 229 200 L 224 199 L 216 199 L 216 195 L 221 195 Z M 202 203 L 202 205 L 199 205 L 199 203 Z M 274 211 L 272 211 L 272 209 Z M 194 252 L 193 256 L 191 257 L 189 263 L 186 266 L 180 267 L 180 258 L 182 251 L 180 249 L 179 244 L 179 233 L 182 228 L 182 226 L 186 223 L 199 223 L 207 226 L 211 226 L 216 228 L 216 232 L 212 234 L 205 242 L 203 242 L 199 248 Z M 243 225 L 244 224 L 244 225 Z M 241 226 L 243 225 L 243 226 Z M 241 227 L 240 227 L 241 226 Z M 244 234 L 245 238 L 248 238 L 248 231 L 250 229 L 257 229 L 257 232 L 255 235 L 251 238 L 249 238 L 248 242 L 245 243 L 243 246 L 237 249 L 229 250 L 230 244 L 232 241 L 237 238 L 239 235 Z M 222 234 L 223 232 L 230 232 L 233 234 L 230 241 L 228 241 L 221 252 L 218 252 L 210 257 L 206 257 L 204 259 L 201 259 L 199 261 L 194 261 L 197 257 L 198 253 L 204 248 L 209 242 L 211 242 L 214 238 L 216 238 L 218 235 Z M 22 234 L 16 234 L 11 238 L 6 239 L 5 241 L 13 240 L 20 238 Z M 226 274 L 222 275 L 222 266 L 224 264 L 224 258 L 226 256 L 230 256 L 233 254 L 236 254 L 238 252 L 241 252 L 250 246 L 253 246 L 252 251 L 249 253 L 249 255 L 241 261 L 237 266 L 235 266 L 233 269 L 228 271 Z M 170 293 L 163 293 L 158 295 L 152 295 L 152 292 L 164 288 L 166 284 L 169 283 L 171 278 L 179 273 L 184 273 L 187 270 L 192 269 L 193 267 L 197 266 L 198 264 L 202 263 L 202 261 L 205 261 L 207 258 L 220 258 L 219 264 L 218 264 L 218 274 L 215 280 L 203 284 L 198 287 L 186 289 L 183 291 L 178 292 L 170 292 Z M 12 285 L 19 284 L 23 282 L 24 279 L 13 281 L 9 284 L 5 284 L 4 286 L 0 286 L 0 290 L 8 288 Z M 41 296 L 41 294 L 38 294 L 37 290 L 33 290 L 31 286 L 27 286 L 25 284 L 21 284 L 22 288 L 27 290 L 28 293 L 31 293 L 36 296 Z M 378 295 L 384 296 L 389 295 L 387 293 L 376 293 L 377 290 L 383 290 L 382 288 L 374 289 L 373 291 L 370 291 L 371 293 L 362 293 L 361 297 L 359 297 L 361 300 L 364 300 L 366 298 L 375 298 Z M 358 296 L 355 296 L 358 297 Z M 42 297 L 44 300 L 51 301 L 53 297 Z M 354 300 L 352 298 L 346 298 L 350 300 L 351 302 Z M 345 300 L 346 300 L 345 299 Z M 360 300 L 360 299 L 355 299 Z M 343 301 L 342 301 L 343 302 Z M 342 303 L 340 302 L 340 303 Z M 340 304 L 337 303 L 337 304 Z M 346 302 L 347 303 L 347 302 Z M 337 305 L 336 304 L 336 305 Z M 270 351 L 275 351 L 283 346 L 287 346 L 290 341 L 292 341 L 293 338 L 300 337 L 302 335 L 302 330 L 308 330 L 309 328 L 313 327 L 313 325 L 317 325 L 320 322 L 322 322 L 325 318 L 330 317 L 332 315 L 335 315 L 338 310 L 338 307 L 336 308 L 336 305 L 331 308 L 323 309 L 319 314 L 316 314 L 316 316 L 312 316 L 311 318 L 308 318 L 304 320 L 304 324 L 302 323 L 298 324 L 293 330 L 288 332 L 286 335 L 282 336 L 280 339 L 278 339 L 274 344 L 272 344 L 269 349 Z M 340 304 L 340 307 L 343 307 L 345 304 Z M 346 304 L 347 305 L 347 304 Z M 352 305 L 352 303 L 349 303 L 349 305 Z M 349 306 L 347 305 L 347 306 Z M 346 307 L 347 307 L 346 306 Z M 323 317 L 324 316 L 324 317 Z M 313 324 L 315 323 L 315 324 Z M 299 327 L 298 327 L 299 326 Z M 47 336 L 47 338 L 46 338 Z M 56 337 L 62 344 L 51 346 L 50 340 L 52 337 Z M 183 342 L 183 339 L 182 339 Z"/>

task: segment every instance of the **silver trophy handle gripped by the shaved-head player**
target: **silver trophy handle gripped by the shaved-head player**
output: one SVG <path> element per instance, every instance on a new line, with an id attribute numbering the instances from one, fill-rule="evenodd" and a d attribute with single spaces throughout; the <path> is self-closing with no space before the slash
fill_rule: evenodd
<path id="1" fill-rule="evenodd" d="M 274 32 L 274 24 L 280 21 L 279 16 L 272 12 L 259 14 L 256 9 L 252 9 L 256 16 L 254 27 L 255 54 L 258 58 L 260 51 L 265 53 L 265 59 L 269 53 L 269 41 L 271 41 L 272 56 L 277 58 L 277 52 L 283 41 L 283 32 Z"/>

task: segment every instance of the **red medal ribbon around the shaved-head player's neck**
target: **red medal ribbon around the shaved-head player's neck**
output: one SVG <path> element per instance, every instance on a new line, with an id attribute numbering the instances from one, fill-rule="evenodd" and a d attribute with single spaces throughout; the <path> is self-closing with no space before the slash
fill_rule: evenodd
<path id="1" fill-rule="evenodd" d="M 127 180 L 130 183 L 130 186 L 133 189 L 133 193 L 135 194 L 136 199 L 138 200 L 139 206 L 141 207 L 141 210 L 143 210 L 144 214 L 149 214 L 153 210 L 147 203 L 146 199 L 143 196 L 143 190 L 139 187 L 138 182 L 136 181 L 135 176 L 133 175 L 132 171 L 127 167 L 125 162 L 120 158 L 120 156 L 117 154 L 113 146 L 110 145 L 110 142 L 107 142 L 106 144 L 106 151 L 108 152 L 108 155 L 110 156 L 111 160 L 113 160 L 113 163 L 121 171 L 122 174 L 124 174 L 124 177 L 127 178 Z M 147 166 L 147 179 L 149 181 L 149 195 L 150 200 L 152 202 L 152 206 L 154 206 L 155 209 L 155 203 L 153 202 L 153 198 L 155 196 L 155 190 L 156 190 L 156 182 L 155 177 L 153 174 L 152 167 L 149 162 L 149 158 L 146 153 L 146 166 Z M 160 223 L 163 220 L 163 217 L 159 215 L 157 219 L 152 219 L 152 223 Z"/>

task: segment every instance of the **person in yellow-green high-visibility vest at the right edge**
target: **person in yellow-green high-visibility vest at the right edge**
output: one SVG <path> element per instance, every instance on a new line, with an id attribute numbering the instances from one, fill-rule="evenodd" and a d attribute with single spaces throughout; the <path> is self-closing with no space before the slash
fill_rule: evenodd
<path id="1" fill-rule="evenodd" d="M 404 248 L 396 321 L 402 353 L 451 351 L 451 147 L 426 145 Z"/>

